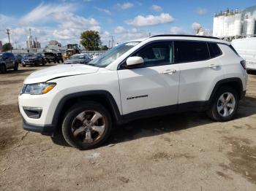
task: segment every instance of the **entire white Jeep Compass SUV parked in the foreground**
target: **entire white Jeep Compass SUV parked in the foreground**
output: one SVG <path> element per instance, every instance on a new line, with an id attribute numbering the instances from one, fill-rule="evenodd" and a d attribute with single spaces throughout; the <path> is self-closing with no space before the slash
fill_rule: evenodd
<path id="1" fill-rule="evenodd" d="M 115 124 L 173 112 L 205 111 L 232 120 L 246 93 L 244 60 L 229 42 L 160 35 L 113 47 L 88 65 L 65 64 L 26 78 L 19 95 L 23 128 L 72 147 L 98 147 Z"/>

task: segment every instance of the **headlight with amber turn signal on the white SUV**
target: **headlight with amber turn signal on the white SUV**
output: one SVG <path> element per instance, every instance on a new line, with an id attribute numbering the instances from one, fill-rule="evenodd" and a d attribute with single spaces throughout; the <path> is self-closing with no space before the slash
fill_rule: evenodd
<path id="1" fill-rule="evenodd" d="M 37 84 L 30 84 L 24 85 L 21 93 L 28 93 L 33 95 L 45 94 L 48 93 L 53 87 L 56 86 L 56 83 L 37 83 Z"/>

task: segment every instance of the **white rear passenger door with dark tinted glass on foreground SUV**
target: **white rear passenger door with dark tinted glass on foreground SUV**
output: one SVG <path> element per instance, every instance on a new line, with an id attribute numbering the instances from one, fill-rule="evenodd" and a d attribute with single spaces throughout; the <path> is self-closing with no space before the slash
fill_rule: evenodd
<path id="1" fill-rule="evenodd" d="M 216 43 L 200 41 L 175 41 L 174 50 L 181 72 L 178 104 L 208 101 L 214 85 L 224 77 L 221 50 Z"/>

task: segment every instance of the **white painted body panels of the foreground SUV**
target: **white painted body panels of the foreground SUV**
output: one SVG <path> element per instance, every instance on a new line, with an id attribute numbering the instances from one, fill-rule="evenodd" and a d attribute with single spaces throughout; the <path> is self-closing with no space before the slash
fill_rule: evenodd
<path id="1" fill-rule="evenodd" d="M 208 61 L 118 70 L 118 65 L 124 59 L 148 42 L 176 39 L 222 43 L 219 44 L 222 56 Z M 240 78 L 246 90 L 247 75 L 240 64 L 242 59 L 230 50 L 229 44 L 219 39 L 160 36 L 138 43 L 105 68 L 72 64 L 36 71 L 26 78 L 24 84 L 55 82 L 56 87 L 43 95 L 19 95 L 20 113 L 31 125 L 50 125 L 61 98 L 89 90 L 108 91 L 113 95 L 121 115 L 191 101 L 208 101 L 214 85 L 227 77 Z M 147 96 L 145 99 L 127 99 L 135 95 Z M 42 116 L 31 119 L 23 111 L 23 106 L 42 108 Z"/>

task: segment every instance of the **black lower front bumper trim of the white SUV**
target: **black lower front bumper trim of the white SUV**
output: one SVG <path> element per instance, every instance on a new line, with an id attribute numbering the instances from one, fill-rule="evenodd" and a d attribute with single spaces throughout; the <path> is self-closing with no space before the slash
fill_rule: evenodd
<path id="1" fill-rule="evenodd" d="M 34 125 L 29 124 L 26 120 L 23 119 L 23 129 L 41 133 L 45 136 L 53 136 L 56 127 L 54 125 Z"/>

